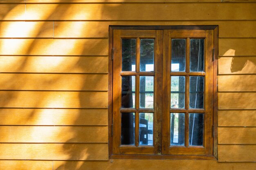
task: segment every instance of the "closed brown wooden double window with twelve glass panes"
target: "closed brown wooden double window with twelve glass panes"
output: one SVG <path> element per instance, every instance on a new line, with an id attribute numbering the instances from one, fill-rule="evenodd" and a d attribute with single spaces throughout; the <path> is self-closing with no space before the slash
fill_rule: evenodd
<path id="1" fill-rule="evenodd" d="M 113 155 L 213 155 L 213 29 L 113 29 Z"/>

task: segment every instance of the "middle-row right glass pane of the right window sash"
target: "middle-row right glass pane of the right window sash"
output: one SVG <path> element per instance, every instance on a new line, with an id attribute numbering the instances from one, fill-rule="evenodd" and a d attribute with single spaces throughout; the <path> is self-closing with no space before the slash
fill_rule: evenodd
<path id="1" fill-rule="evenodd" d="M 189 108 L 204 108 L 204 77 L 189 79 Z"/>

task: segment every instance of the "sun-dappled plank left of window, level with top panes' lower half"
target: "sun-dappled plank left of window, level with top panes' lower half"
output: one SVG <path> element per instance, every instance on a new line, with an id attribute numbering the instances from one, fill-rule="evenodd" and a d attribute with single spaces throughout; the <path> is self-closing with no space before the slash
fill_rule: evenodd
<path id="1" fill-rule="evenodd" d="M 1 73 L 108 73 L 108 57 L 0 56 Z"/>

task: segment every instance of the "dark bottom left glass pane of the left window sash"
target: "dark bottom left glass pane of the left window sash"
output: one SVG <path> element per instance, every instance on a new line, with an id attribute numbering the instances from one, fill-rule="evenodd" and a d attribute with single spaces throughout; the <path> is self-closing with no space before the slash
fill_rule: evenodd
<path id="1" fill-rule="evenodd" d="M 135 113 L 121 113 L 121 145 L 134 145 Z"/>

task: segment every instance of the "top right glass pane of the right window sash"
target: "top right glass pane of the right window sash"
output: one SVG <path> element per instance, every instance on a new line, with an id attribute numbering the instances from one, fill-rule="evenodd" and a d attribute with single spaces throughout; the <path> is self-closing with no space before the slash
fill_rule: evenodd
<path id="1" fill-rule="evenodd" d="M 204 71 L 204 39 L 190 40 L 190 71 Z"/>

